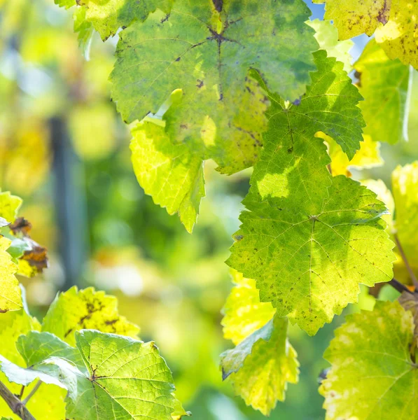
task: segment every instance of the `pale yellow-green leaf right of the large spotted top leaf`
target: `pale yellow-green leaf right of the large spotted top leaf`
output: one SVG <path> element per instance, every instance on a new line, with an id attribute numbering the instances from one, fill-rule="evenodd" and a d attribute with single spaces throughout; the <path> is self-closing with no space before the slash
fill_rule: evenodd
<path id="1" fill-rule="evenodd" d="M 338 40 L 338 29 L 329 20 L 309 20 L 307 25 L 315 29 L 315 39 L 321 50 L 326 50 L 328 57 L 335 57 L 344 64 L 344 71 L 349 73 L 352 69 L 350 50 L 354 42 L 351 39 Z"/>

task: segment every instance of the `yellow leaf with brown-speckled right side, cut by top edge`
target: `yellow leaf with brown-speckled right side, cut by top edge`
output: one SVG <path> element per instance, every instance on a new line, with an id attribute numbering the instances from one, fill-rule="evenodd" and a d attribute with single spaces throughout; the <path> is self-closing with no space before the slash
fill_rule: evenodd
<path id="1" fill-rule="evenodd" d="M 326 3 L 324 19 L 333 20 L 340 39 L 367 34 L 372 36 L 380 23 L 389 20 L 390 1 L 386 0 L 313 0 Z"/>

